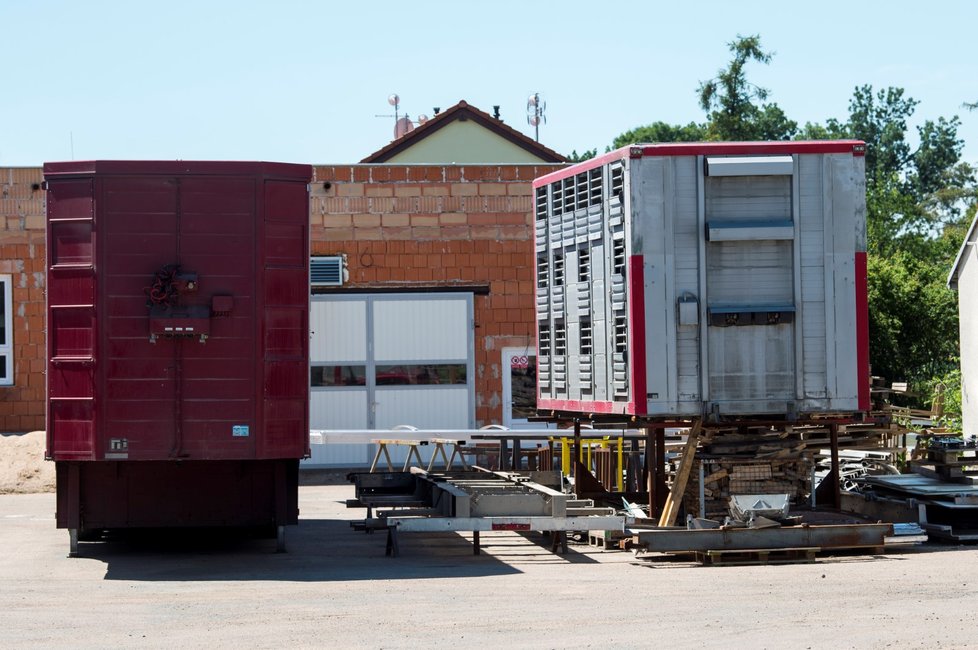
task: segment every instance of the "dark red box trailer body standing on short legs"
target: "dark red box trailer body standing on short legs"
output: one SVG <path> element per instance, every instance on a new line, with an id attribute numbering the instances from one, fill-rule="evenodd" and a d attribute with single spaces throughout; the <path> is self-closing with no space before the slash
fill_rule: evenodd
<path id="1" fill-rule="evenodd" d="M 298 521 L 311 167 L 44 165 L 57 525 Z"/>

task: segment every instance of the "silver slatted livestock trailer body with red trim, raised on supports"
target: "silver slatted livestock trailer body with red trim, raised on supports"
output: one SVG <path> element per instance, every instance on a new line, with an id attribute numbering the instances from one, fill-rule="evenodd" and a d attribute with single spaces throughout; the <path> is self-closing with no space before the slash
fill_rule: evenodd
<path id="1" fill-rule="evenodd" d="M 534 181 L 537 407 L 867 411 L 864 152 L 646 144 Z"/>

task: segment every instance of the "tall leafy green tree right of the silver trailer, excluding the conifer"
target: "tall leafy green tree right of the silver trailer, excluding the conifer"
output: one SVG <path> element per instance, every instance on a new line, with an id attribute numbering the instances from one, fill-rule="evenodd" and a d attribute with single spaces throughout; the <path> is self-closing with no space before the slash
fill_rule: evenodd
<path id="1" fill-rule="evenodd" d="M 926 120 L 902 88 L 857 87 L 845 122 L 806 124 L 803 138 L 866 142 L 870 356 L 874 374 L 915 385 L 957 367 L 958 311 L 947 273 L 974 213 L 975 170 L 961 160 L 957 117 Z"/>

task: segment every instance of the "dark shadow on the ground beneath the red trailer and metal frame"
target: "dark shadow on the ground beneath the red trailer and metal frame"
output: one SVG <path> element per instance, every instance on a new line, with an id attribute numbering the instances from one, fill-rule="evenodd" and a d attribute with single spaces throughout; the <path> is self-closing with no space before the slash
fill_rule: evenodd
<path id="1" fill-rule="evenodd" d="M 418 580 L 522 573 L 522 563 L 593 563 L 571 545 L 551 553 L 542 536 L 402 534 L 401 555 L 385 555 L 387 535 L 354 531 L 348 521 L 310 519 L 286 529 L 285 553 L 274 539 L 241 531 L 174 529 L 121 531 L 79 544 L 79 556 L 106 564 L 106 580 L 293 581 Z"/>

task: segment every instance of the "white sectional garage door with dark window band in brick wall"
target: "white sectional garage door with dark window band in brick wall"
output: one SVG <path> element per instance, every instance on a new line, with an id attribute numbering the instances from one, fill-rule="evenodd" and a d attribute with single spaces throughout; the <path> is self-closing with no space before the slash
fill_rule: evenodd
<path id="1" fill-rule="evenodd" d="M 475 426 L 472 294 L 313 296 L 313 429 Z"/>

